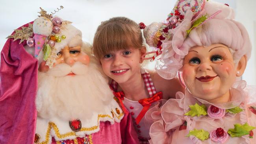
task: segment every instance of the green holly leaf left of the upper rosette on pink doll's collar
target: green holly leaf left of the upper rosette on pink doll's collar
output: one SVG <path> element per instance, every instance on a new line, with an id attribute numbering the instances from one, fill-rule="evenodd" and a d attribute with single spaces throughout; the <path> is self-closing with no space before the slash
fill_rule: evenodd
<path id="1" fill-rule="evenodd" d="M 198 105 L 197 103 L 195 105 L 189 105 L 190 111 L 187 112 L 186 116 L 200 116 L 200 115 L 206 115 L 207 114 L 207 107 L 202 104 Z"/>

